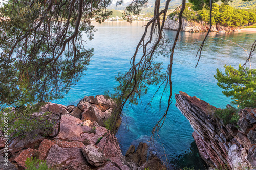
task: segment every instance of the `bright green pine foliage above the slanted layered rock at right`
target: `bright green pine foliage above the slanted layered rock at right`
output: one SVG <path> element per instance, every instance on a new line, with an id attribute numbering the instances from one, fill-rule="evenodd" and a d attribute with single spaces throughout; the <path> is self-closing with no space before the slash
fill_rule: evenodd
<path id="1" fill-rule="evenodd" d="M 217 69 L 214 76 L 222 91 L 233 100 L 231 103 L 239 108 L 256 107 L 256 69 L 243 68 L 241 64 L 238 70 L 232 66 L 225 65 L 225 72 Z"/>

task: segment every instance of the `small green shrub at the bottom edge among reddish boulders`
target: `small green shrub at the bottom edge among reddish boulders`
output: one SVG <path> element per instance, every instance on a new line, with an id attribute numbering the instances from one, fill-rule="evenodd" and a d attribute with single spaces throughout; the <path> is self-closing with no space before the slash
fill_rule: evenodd
<path id="1" fill-rule="evenodd" d="M 45 161 L 36 158 L 27 158 L 25 164 L 27 170 L 50 170 Z"/>

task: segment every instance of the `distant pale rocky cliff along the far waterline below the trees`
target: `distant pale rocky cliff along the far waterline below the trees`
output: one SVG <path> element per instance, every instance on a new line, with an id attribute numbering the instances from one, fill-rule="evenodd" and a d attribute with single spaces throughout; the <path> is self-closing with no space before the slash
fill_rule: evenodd
<path id="1" fill-rule="evenodd" d="M 179 19 L 178 15 L 173 16 L 170 18 L 167 16 L 167 19 L 164 24 L 164 29 L 168 30 L 178 30 L 179 27 Z M 206 32 L 210 28 L 210 25 L 206 24 L 204 21 L 199 22 L 193 22 L 193 21 L 187 21 L 184 18 L 182 19 L 182 26 L 181 31 L 188 31 L 188 32 Z M 238 31 L 239 27 L 225 27 L 221 26 L 219 23 L 212 25 L 211 31 Z"/>

